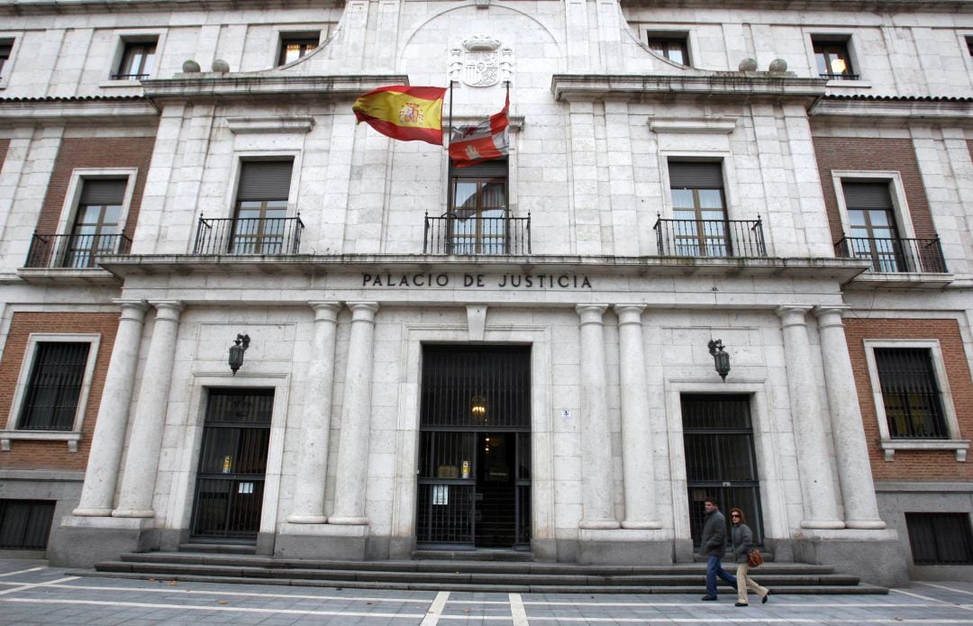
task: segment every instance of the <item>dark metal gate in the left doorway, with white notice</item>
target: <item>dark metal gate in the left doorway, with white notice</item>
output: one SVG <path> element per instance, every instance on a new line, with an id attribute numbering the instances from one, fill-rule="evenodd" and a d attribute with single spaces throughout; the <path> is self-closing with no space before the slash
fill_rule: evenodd
<path id="1" fill-rule="evenodd" d="M 253 541 L 264 504 L 272 389 L 211 389 L 193 507 L 193 539 Z"/>

